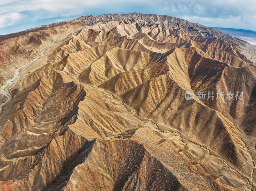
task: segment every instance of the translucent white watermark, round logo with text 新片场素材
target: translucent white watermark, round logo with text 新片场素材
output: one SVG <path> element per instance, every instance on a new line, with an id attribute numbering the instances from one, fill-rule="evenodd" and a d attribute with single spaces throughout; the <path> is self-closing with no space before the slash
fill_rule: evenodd
<path id="1" fill-rule="evenodd" d="M 197 92 L 196 99 L 197 100 L 213 100 L 213 99 L 219 99 L 219 100 L 242 100 L 243 99 L 244 92 Z M 194 99 L 195 94 L 189 90 L 185 93 L 185 99 L 191 100 Z"/>

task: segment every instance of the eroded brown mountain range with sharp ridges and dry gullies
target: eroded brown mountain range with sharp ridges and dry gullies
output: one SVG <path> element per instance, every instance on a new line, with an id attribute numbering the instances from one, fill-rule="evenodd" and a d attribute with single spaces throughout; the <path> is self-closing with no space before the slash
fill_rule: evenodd
<path id="1" fill-rule="evenodd" d="M 154 14 L 1 36 L 0 190 L 256 189 L 255 59 L 243 40 Z"/>

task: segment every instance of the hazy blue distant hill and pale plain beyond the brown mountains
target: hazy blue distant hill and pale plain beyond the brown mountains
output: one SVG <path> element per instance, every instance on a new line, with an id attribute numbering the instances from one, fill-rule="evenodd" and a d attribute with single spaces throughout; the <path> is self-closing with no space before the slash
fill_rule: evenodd
<path id="1" fill-rule="evenodd" d="M 237 37 L 239 39 L 250 42 L 251 44 L 256 45 L 256 32 L 251 30 L 236 29 L 236 28 L 220 28 L 220 27 L 211 27 L 222 33 L 229 34 L 231 36 Z"/>

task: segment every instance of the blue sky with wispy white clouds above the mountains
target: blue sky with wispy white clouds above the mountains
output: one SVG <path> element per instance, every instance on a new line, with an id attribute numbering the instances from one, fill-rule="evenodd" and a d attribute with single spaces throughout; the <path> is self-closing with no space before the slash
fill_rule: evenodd
<path id="1" fill-rule="evenodd" d="M 255 0 L 0 0 L 0 34 L 80 16 L 139 12 L 256 31 Z"/>

